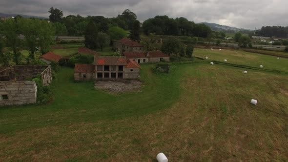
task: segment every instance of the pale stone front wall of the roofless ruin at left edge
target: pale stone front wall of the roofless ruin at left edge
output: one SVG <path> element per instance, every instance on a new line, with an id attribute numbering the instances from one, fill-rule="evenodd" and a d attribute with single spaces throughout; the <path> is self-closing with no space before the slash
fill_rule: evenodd
<path id="1" fill-rule="evenodd" d="M 0 81 L 0 106 L 36 103 L 36 99 L 35 81 Z"/>

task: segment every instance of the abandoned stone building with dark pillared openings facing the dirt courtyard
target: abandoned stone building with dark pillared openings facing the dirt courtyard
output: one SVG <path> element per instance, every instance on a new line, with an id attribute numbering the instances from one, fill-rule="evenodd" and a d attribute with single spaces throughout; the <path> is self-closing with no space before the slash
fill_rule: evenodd
<path id="1" fill-rule="evenodd" d="M 93 64 L 75 64 L 75 81 L 137 79 L 140 65 L 124 56 L 94 56 Z"/>

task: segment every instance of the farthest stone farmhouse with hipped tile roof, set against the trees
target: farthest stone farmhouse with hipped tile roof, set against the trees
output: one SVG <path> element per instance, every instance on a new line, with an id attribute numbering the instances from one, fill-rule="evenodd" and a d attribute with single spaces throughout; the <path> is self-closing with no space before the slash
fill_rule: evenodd
<path id="1" fill-rule="evenodd" d="M 123 38 L 118 41 L 113 41 L 113 49 L 121 52 L 141 52 L 144 50 L 144 46 L 137 41 L 132 41 L 128 38 Z"/>

